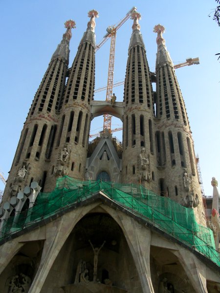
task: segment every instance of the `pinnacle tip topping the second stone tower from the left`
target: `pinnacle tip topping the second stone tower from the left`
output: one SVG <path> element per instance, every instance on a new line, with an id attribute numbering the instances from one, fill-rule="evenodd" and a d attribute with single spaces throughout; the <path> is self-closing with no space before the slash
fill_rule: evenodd
<path id="1" fill-rule="evenodd" d="M 95 47 L 95 18 L 99 17 L 99 13 L 96 10 L 88 11 L 88 17 L 90 21 L 87 24 L 87 30 L 83 35 L 83 38 L 79 45 L 82 45 L 85 42 L 91 43 Z"/>

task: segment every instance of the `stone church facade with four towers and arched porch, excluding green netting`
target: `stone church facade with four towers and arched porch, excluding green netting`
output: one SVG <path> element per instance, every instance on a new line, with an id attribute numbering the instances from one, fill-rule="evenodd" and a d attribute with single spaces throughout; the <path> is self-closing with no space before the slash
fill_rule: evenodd
<path id="1" fill-rule="evenodd" d="M 119 203 L 108 188 L 94 191 L 89 185 L 80 200 L 76 197 L 63 209 L 53 208 L 55 212 L 45 217 L 43 212 L 37 219 L 32 217 L 40 198 L 58 188 L 57 179 L 78 180 L 74 188 L 68 185 L 65 190 L 79 194 L 85 182 L 105 177 L 112 190 L 120 185 L 120 196 L 132 190 L 138 207 L 141 201 L 134 193 L 139 191 L 133 190 L 145 190 L 141 204 L 147 203 L 146 190 L 150 190 L 158 201 L 164 200 L 161 209 L 166 211 L 165 203 L 174 202 L 190 210 L 198 225 L 207 229 L 192 133 L 163 39 L 164 27 L 154 27 L 158 49 L 153 74 L 140 33 L 140 15 L 133 12 L 124 100 L 96 101 L 98 13 L 92 10 L 88 16 L 70 68 L 69 41 L 75 23 L 66 21 L 66 33 L 22 129 L 0 208 L 0 292 L 219 292 L 217 251 L 216 259 L 207 257 L 196 244 L 187 245 L 176 232 L 160 229 L 143 217 L 136 206 L 129 209 Z M 108 131 L 88 142 L 91 120 L 106 113 L 121 119 L 122 144 Z M 60 197 L 67 196 L 64 189 L 59 192 Z M 45 207 L 49 201 L 48 197 Z M 25 214 L 22 228 L 20 214 Z M 198 234 L 192 235 L 199 238 Z M 213 238 L 212 231 L 210 235 Z"/>

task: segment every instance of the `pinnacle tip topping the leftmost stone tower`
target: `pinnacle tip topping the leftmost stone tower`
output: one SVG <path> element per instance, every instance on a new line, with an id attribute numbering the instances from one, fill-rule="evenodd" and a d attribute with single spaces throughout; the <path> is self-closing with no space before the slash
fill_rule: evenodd
<path id="1" fill-rule="evenodd" d="M 63 34 L 63 40 L 57 46 L 57 49 L 53 53 L 51 61 L 59 57 L 64 59 L 66 64 L 68 64 L 69 63 L 69 41 L 72 38 L 71 29 L 76 27 L 75 21 L 72 21 L 72 20 L 66 21 L 65 27 L 66 27 L 66 33 Z"/>

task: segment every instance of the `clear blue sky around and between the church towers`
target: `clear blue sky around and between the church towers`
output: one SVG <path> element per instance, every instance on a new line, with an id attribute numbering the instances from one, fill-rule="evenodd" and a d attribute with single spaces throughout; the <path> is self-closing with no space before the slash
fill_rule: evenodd
<path id="1" fill-rule="evenodd" d="M 92 3 L 92 4 L 91 4 Z M 96 20 L 96 42 L 106 28 L 121 20 L 132 8 L 142 15 L 141 32 L 147 49 L 150 70 L 155 70 L 155 24 L 165 26 L 167 49 L 174 63 L 188 57 L 199 57 L 200 64 L 176 70 L 185 100 L 195 152 L 199 154 L 203 186 L 212 195 L 211 178 L 220 181 L 220 28 L 208 17 L 216 7 L 215 0 L 11 0 L 1 2 L 0 19 L 0 171 L 7 178 L 18 145 L 23 123 L 35 92 L 44 76 L 50 58 L 65 32 L 64 22 L 73 19 L 76 29 L 70 41 L 70 64 L 86 30 L 91 9 L 99 11 Z M 211 14 L 213 15 L 213 14 Z M 125 77 L 127 53 L 132 33 L 128 20 L 117 33 L 114 82 Z M 96 54 L 96 88 L 107 83 L 110 42 Z M 114 90 L 117 101 L 123 100 L 123 86 Z M 95 96 L 105 100 L 105 92 Z M 95 119 L 91 132 L 103 125 Z M 113 120 L 112 128 L 120 127 Z M 115 132 L 121 139 L 121 133 Z M 0 182 L 0 189 L 4 186 Z"/>

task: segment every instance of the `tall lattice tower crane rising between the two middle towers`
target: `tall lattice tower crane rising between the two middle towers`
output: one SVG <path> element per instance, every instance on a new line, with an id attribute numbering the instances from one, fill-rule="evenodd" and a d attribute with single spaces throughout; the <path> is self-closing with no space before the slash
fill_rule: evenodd
<path id="1" fill-rule="evenodd" d="M 110 43 L 110 57 L 109 57 L 109 70 L 108 70 L 108 82 L 106 87 L 106 101 L 111 100 L 112 96 L 112 88 L 113 88 L 113 75 L 114 75 L 114 56 L 115 56 L 115 41 L 116 41 L 116 32 L 122 26 L 125 21 L 127 21 L 132 12 L 136 11 L 136 7 L 132 7 L 131 10 L 126 14 L 126 16 L 116 25 L 109 26 L 107 28 L 107 34 L 104 36 L 103 40 L 96 46 L 96 51 L 105 43 L 109 38 L 111 38 Z M 104 114 L 104 123 L 103 123 L 103 130 L 109 129 L 111 131 L 111 115 L 106 113 Z"/>

